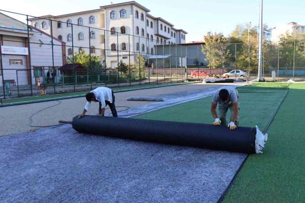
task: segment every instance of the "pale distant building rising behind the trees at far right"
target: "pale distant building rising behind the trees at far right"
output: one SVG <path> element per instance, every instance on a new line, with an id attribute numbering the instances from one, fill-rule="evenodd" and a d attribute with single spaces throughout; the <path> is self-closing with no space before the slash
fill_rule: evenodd
<path id="1" fill-rule="evenodd" d="M 305 34 L 305 25 L 297 24 L 296 22 L 289 22 L 287 24 L 278 24 L 272 29 L 272 41 L 278 42 L 281 36 L 286 34 Z"/>

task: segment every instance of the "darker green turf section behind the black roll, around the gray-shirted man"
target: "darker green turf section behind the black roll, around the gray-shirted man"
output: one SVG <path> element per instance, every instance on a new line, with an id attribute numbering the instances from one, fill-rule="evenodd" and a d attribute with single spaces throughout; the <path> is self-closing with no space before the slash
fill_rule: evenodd
<path id="1" fill-rule="evenodd" d="M 238 88 L 238 92 L 240 126 L 255 127 L 257 125 L 260 129 L 263 129 L 271 118 L 271 114 L 277 109 L 281 99 L 285 96 L 287 89 L 270 89 L 265 88 L 265 86 L 249 85 Z M 211 97 L 205 97 L 138 115 L 135 118 L 211 124 L 214 119 L 210 113 L 210 105 Z M 227 120 L 229 119 L 230 113 L 228 112 Z"/>

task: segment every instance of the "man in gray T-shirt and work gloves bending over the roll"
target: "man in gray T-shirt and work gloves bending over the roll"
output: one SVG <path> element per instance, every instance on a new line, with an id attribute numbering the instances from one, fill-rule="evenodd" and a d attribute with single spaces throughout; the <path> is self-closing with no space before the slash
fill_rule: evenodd
<path id="1" fill-rule="evenodd" d="M 216 107 L 218 105 L 219 117 L 216 112 Z M 231 122 L 227 124 L 227 111 L 230 108 L 232 117 Z M 211 113 L 215 121 L 213 125 L 228 125 L 228 128 L 234 130 L 237 128 L 239 123 L 238 112 L 239 102 L 238 102 L 238 92 L 235 88 L 226 86 L 218 90 L 212 97 Z"/>

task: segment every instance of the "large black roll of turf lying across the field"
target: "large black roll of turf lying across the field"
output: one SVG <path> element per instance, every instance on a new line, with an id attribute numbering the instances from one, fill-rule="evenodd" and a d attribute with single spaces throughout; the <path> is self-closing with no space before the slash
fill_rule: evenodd
<path id="1" fill-rule="evenodd" d="M 81 133 L 125 139 L 176 144 L 231 152 L 255 153 L 256 128 L 155 121 L 86 115 L 73 118 L 72 126 Z"/>

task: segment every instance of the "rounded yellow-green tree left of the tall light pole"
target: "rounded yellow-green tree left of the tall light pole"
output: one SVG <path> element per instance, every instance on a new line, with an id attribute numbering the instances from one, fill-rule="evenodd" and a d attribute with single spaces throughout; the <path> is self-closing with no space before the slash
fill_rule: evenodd
<path id="1" fill-rule="evenodd" d="M 223 66 L 227 62 L 229 51 L 227 50 L 227 39 L 222 33 L 211 34 L 210 32 L 204 37 L 205 45 L 201 46 L 201 51 L 206 55 L 205 61 L 211 68 Z"/>

